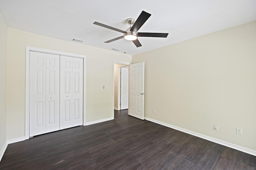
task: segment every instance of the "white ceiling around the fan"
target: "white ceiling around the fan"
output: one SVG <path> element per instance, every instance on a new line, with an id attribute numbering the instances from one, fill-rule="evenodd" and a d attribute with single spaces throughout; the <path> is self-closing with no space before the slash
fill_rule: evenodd
<path id="1" fill-rule="evenodd" d="M 139 32 L 169 33 L 167 38 L 139 37 L 142 47 L 119 39 L 123 34 L 94 21 L 126 30 L 126 19 L 142 10 L 152 14 Z M 256 20 L 256 0 L 0 0 L 10 28 L 134 55 Z"/>

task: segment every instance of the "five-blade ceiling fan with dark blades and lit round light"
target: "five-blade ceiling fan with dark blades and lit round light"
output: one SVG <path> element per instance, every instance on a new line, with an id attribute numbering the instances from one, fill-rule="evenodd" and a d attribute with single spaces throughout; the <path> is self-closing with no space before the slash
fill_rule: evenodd
<path id="1" fill-rule="evenodd" d="M 95 25 L 99 25 L 101 27 L 105 27 L 108 29 L 112 29 L 114 31 L 118 31 L 121 33 L 124 33 L 124 35 L 111 39 L 109 41 L 106 41 L 104 43 L 110 43 L 112 41 L 116 41 L 118 39 L 126 39 L 129 41 L 132 41 L 136 47 L 140 47 L 142 46 L 140 41 L 138 40 L 138 37 L 163 37 L 166 38 L 168 33 L 140 33 L 138 32 L 138 30 L 140 29 L 140 27 L 146 22 L 146 20 L 148 20 L 148 18 L 151 16 L 151 14 L 142 11 L 140 16 L 138 17 L 138 19 L 135 21 L 133 18 L 128 18 L 126 21 L 127 23 L 130 25 L 130 28 L 126 29 L 125 31 L 121 30 L 121 29 L 117 29 L 114 27 L 110 27 L 108 25 L 105 25 L 103 23 L 99 23 L 99 22 L 94 22 Z"/>

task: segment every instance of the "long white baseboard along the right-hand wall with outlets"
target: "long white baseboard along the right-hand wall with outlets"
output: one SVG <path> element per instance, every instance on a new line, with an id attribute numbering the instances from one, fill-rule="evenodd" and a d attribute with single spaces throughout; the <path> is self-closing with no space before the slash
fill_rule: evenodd
<path id="1" fill-rule="evenodd" d="M 188 133 L 190 135 L 193 135 L 193 136 L 196 136 L 196 137 L 200 137 L 202 139 L 206 139 L 208 141 L 212 141 L 214 143 L 218 143 L 220 145 L 224 145 L 226 147 L 230 147 L 232 149 L 236 149 L 236 150 L 240 150 L 242 152 L 245 152 L 245 153 L 248 153 L 248 154 L 251 154 L 251 155 L 254 155 L 256 156 L 256 150 L 252 150 L 252 149 L 248 149 L 248 148 L 245 148 L 245 147 L 241 147 L 239 145 L 235 145 L 235 144 L 232 144 L 232 143 L 228 143 L 226 141 L 222 141 L 222 140 L 219 140 L 219 139 L 216 139 L 216 138 L 213 138 L 213 137 L 209 137 L 209 136 L 206 136 L 206 135 L 202 135 L 200 133 L 196 133 L 196 132 L 193 132 L 193 131 L 189 131 L 187 129 L 183 129 L 181 127 L 177 127 L 177 126 L 174 126 L 174 125 L 170 125 L 170 124 L 167 124 L 167 123 L 164 123 L 164 122 L 161 122 L 161 121 L 157 121 L 157 120 L 154 120 L 154 119 L 150 119 L 148 117 L 145 117 L 146 120 L 148 121 L 152 121 L 154 123 L 157 123 L 157 124 L 160 124 L 160 125 L 163 125 L 163 126 L 166 126 L 166 127 L 170 127 L 172 129 L 176 129 L 178 131 L 182 131 L 184 133 Z"/>

